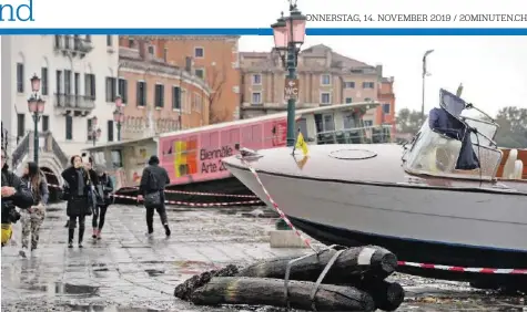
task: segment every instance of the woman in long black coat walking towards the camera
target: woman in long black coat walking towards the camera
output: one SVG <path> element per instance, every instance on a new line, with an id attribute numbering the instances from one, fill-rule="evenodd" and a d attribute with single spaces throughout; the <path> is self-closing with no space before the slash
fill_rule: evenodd
<path id="1" fill-rule="evenodd" d="M 62 171 L 62 178 L 68 183 L 69 196 L 67 215 L 70 218 L 68 223 L 68 248 L 73 248 L 73 237 L 77 221 L 79 221 L 79 248 L 82 248 L 84 238 L 85 217 L 92 211 L 92 187 L 97 185 L 97 175 L 92 170 L 84 168 L 82 157 L 75 155 L 70 159 L 71 167 Z"/>

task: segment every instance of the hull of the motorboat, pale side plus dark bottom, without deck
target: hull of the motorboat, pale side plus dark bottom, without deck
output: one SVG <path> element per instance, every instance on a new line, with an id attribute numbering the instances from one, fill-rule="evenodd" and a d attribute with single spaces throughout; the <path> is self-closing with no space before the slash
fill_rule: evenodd
<path id="1" fill-rule="evenodd" d="M 316 166 L 316 159 L 308 162 Z M 270 204 L 243 164 L 234 157 L 224 163 Z M 379 245 L 407 262 L 527 269 L 525 194 L 323 179 L 284 169 L 273 171 L 262 163 L 254 162 L 253 166 L 273 199 L 295 226 L 324 243 Z M 324 168 L 324 164 L 318 165 Z M 361 175 L 357 168 L 342 170 Z M 401 271 L 447 280 L 475 281 L 483 277 L 527 282 L 527 274 L 476 274 L 404 266 Z"/>

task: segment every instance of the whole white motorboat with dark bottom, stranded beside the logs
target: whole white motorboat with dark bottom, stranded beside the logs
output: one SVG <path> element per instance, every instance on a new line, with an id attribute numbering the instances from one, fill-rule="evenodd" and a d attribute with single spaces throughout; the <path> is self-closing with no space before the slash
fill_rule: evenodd
<path id="1" fill-rule="evenodd" d="M 243 159 L 231 156 L 223 163 L 270 204 L 247 164 L 252 166 L 291 221 L 322 242 L 378 245 L 402 261 L 439 266 L 435 268 L 523 272 L 527 269 L 527 190 L 496 178 L 503 157 L 493 141 L 497 125 L 464 117 L 469 107 L 442 90 L 440 107 L 430 112 L 409 146 L 312 145 L 308 156 L 281 147 L 256 150 Z M 516 170 L 523 170 L 520 160 L 516 165 Z M 527 285 L 525 273 L 433 268 L 402 267 L 401 271 Z"/>

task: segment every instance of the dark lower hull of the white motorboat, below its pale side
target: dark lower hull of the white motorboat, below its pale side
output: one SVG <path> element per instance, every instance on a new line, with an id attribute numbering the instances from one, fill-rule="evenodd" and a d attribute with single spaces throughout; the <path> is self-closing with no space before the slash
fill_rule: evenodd
<path id="1" fill-rule="evenodd" d="M 473 261 L 473 259 L 485 259 L 484 263 L 496 263 L 499 268 L 503 263 L 509 263 L 510 268 L 525 268 L 527 254 L 523 252 L 507 250 L 482 250 L 465 246 L 453 246 L 445 243 L 434 243 L 427 241 L 415 241 L 397 239 L 392 237 L 375 236 L 365 232 L 353 231 L 344 228 L 335 228 L 326 225 L 311 222 L 287 216 L 295 227 L 326 245 L 341 245 L 356 247 L 364 245 L 382 246 L 395 252 L 398 259 L 413 259 L 413 261 L 430 261 L 426 263 L 464 263 L 472 266 L 483 262 Z M 457 258 L 456 260 L 453 257 Z M 433 257 L 430 257 L 433 256 Z M 468 259 L 468 261 L 467 261 Z M 424 263 L 424 262 L 418 262 Z M 458 264 L 458 267 L 465 267 Z M 474 268 L 474 267 L 466 267 Z M 477 266 L 476 268 L 489 268 Z M 442 270 L 430 267 L 399 266 L 397 271 L 402 273 L 419 275 L 432 279 L 443 279 L 450 281 L 467 281 L 476 284 L 514 285 L 515 288 L 526 289 L 527 277 L 525 274 L 489 274 L 482 272 L 470 272 L 460 270 Z"/>

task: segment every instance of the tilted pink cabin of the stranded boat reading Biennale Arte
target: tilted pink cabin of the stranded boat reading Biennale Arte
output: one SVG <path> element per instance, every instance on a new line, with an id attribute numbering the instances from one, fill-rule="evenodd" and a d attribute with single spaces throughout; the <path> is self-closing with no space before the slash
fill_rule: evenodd
<path id="1" fill-rule="evenodd" d="M 391 142 L 393 125 L 368 124 L 363 118 L 379 103 L 363 102 L 296 111 L 296 127 L 308 144 L 359 144 Z M 214 124 L 141 139 L 89 147 L 120 187 L 136 186 L 151 155 L 158 155 L 175 185 L 230 177 L 221 159 L 236 145 L 251 149 L 286 145 L 287 114 Z"/>

